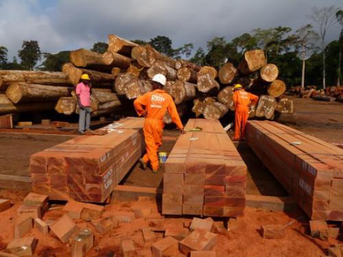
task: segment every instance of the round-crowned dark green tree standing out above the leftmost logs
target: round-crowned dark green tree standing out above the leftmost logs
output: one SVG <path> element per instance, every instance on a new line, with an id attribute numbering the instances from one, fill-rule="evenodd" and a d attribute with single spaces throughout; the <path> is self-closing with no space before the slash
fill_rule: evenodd
<path id="1" fill-rule="evenodd" d="M 34 69 L 38 60 L 40 60 L 41 52 L 38 41 L 29 40 L 23 41 L 22 49 L 18 51 L 19 58 L 21 58 L 21 65 L 28 70 Z"/>

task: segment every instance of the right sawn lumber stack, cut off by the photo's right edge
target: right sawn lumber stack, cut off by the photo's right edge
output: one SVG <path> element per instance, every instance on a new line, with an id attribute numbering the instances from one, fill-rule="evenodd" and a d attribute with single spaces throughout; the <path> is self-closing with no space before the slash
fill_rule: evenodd
<path id="1" fill-rule="evenodd" d="M 343 149 L 271 121 L 248 121 L 247 141 L 310 219 L 343 221 Z"/>

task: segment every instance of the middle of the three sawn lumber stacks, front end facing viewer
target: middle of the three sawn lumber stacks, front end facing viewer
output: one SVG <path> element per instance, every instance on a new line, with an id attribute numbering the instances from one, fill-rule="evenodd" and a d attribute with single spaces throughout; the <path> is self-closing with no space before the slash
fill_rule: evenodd
<path id="1" fill-rule="evenodd" d="M 165 163 L 165 215 L 237 217 L 246 203 L 246 164 L 219 121 L 189 119 Z"/>

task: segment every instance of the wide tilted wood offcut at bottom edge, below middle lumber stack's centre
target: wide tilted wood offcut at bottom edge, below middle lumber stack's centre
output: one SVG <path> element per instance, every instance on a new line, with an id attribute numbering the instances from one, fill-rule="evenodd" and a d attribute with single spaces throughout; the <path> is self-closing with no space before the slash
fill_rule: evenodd
<path id="1" fill-rule="evenodd" d="M 180 242 L 180 250 L 186 255 L 192 251 L 211 251 L 216 243 L 216 234 L 205 230 L 195 230 Z"/>

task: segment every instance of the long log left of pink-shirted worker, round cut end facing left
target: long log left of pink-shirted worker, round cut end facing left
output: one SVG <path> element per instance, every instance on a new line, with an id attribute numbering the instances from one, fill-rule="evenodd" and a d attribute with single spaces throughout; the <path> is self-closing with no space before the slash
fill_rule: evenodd
<path id="1" fill-rule="evenodd" d="M 13 103 L 28 101 L 51 101 L 60 97 L 68 97 L 73 88 L 65 86 L 45 86 L 39 84 L 27 84 L 15 82 L 6 90 L 6 96 Z"/>

